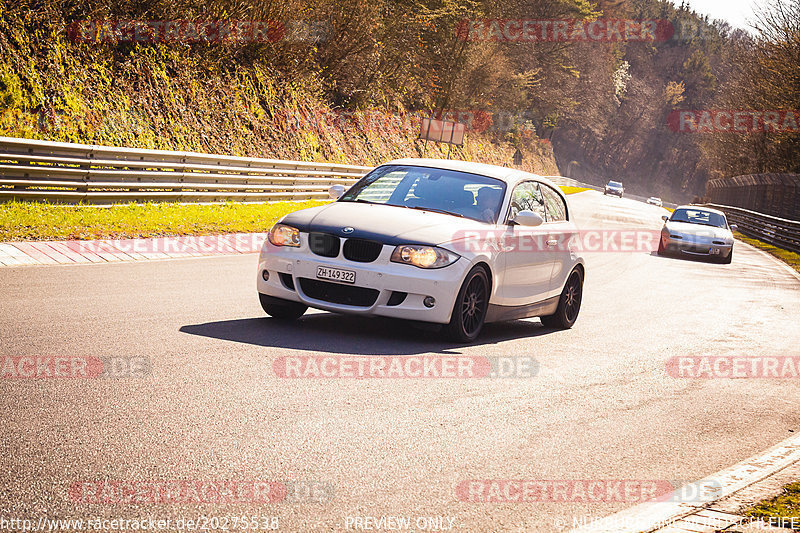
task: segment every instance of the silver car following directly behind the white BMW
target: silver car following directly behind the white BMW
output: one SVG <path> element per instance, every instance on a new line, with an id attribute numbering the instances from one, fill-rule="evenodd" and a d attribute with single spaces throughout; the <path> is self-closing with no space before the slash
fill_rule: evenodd
<path id="1" fill-rule="evenodd" d="M 658 254 L 684 254 L 708 257 L 720 263 L 733 259 L 733 233 L 736 225 L 728 225 L 725 213 L 709 207 L 683 205 L 672 216 L 661 217 L 664 227 L 658 243 Z"/>

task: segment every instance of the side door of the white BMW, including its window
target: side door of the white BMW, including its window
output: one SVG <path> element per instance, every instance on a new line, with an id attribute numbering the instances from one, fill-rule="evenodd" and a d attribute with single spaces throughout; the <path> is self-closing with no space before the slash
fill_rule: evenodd
<path id="1" fill-rule="evenodd" d="M 514 224 L 523 210 L 533 211 L 547 220 L 547 210 L 537 181 L 523 181 L 511 192 L 501 252 L 503 265 L 501 305 L 526 305 L 548 297 L 554 253 L 549 249 L 543 224 L 538 227 Z"/>

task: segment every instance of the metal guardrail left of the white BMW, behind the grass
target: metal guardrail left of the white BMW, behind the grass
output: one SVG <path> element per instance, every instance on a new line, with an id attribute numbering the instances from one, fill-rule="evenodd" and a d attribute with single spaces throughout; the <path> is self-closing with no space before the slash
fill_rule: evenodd
<path id="1" fill-rule="evenodd" d="M 370 167 L 0 137 L 0 201 L 214 203 L 327 198 Z"/>

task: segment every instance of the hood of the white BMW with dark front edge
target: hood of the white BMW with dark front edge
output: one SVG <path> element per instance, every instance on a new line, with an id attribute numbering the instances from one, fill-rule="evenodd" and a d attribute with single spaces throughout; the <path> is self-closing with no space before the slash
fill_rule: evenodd
<path id="1" fill-rule="evenodd" d="M 492 224 L 432 211 L 381 204 L 333 202 L 286 215 L 282 222 L 300 231 L 318 231 L 385 244 L 439 245 L 464 238 L 469 231 L 486 231 Z M 344 228 L 353 228 L 345 233 Z"/>

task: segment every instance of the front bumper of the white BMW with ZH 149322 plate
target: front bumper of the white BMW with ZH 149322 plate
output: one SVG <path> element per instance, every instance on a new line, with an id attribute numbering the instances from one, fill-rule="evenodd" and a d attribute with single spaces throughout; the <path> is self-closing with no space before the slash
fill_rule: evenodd
<path id="1" fill-rule="evenodd" d="M 449 322 L 456 296 L 471 266 L 469 261 L 461 257 L 449 266 L 426 270 L 390 262 L 391 248 L 384 246 L 374 262 L 359 263 L 267 242 L 259 257 L 257 289 L 261 294 L 325 311 Z M 355 272 L 355 283 L 318 279 L 320 266 Z M 269 272 L 268 280 L 263 277 L 265 270 Z M 405 293 L 399 303 L 401 295 L 396 293 Z M 423 303 L 428 296 L 435 299 L 430 308 Z"/>

